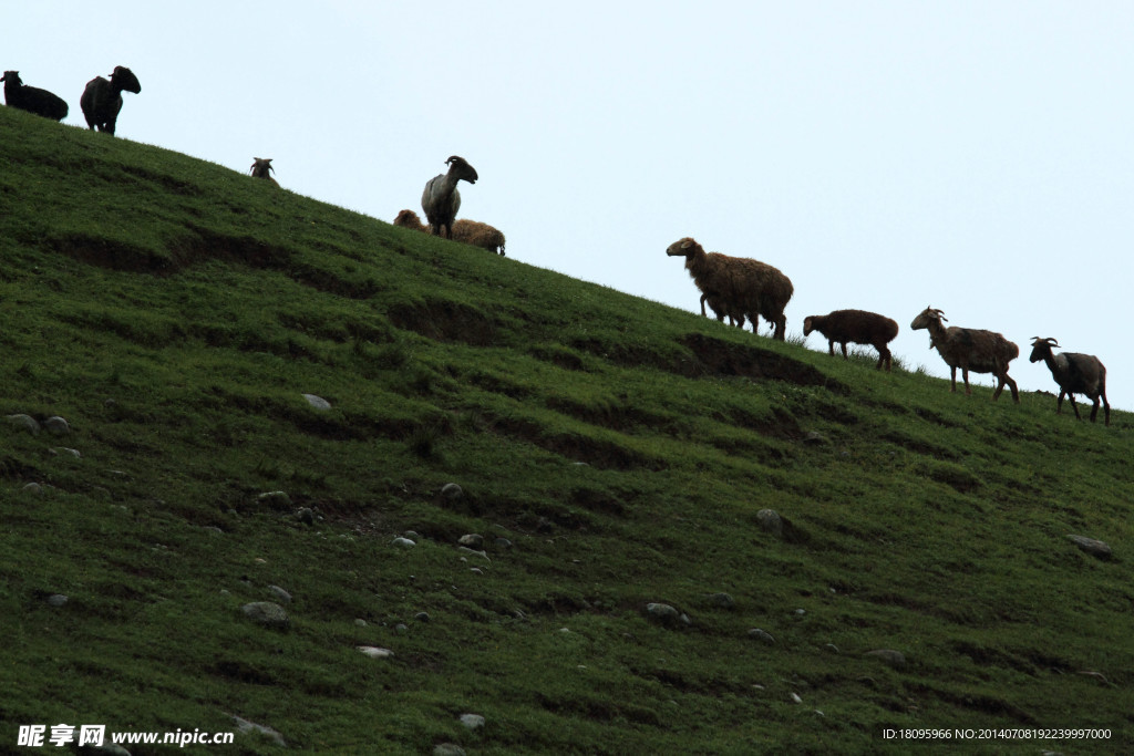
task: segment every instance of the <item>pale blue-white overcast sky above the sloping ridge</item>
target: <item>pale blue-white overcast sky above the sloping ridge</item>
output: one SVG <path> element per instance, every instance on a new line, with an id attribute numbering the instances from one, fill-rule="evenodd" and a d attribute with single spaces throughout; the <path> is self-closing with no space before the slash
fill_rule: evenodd
<path id="1" fill-rule="evenodd" d="M 85 126 L 127 66 L 119 137 L 386 221 L 458 154 L 515 260 L 699 311 L 665 255 L 693 236 L 792 279 L 789 334 L 872 309 L 947 375 L 932 305 L 1019 345 L 1025 390 L 1056 388 L 1033 335 L 1098 355 L 1129 410 L 1132 40 L 1128 1 L 36 0 L 0 68 Z"/>

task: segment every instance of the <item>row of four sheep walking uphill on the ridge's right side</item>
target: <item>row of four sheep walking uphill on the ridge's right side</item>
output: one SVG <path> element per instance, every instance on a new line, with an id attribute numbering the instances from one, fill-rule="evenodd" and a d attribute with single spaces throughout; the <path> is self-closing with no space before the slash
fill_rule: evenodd
<path id="1" fill-rule="evenodd" d="M 685 257 L 685 269 L 693 282 L 701 290 L 701 314 L 705 315 L 705 304 L 712 308 L 717 320 L 727 316 L 733 325 L 743 328 L 745 318 L 752 321 L 752 331 L 756 332 L 759 318 L 763 317 L 775 328 L 773 338 L 784 340 L 787 330 L 787 318 L 784 309 L 792 298 L 794 288 L 792 281 L 779 270 L 765 263 L 747 257 L 731 257 L 718 252 L 705 252 L 696 240 L 686 237 L 669 245 L 666 254 L 670 257 Z M 957 368 L 960 368 L 965 381 L 965 393 L 972 393 L 968 387 L 968 372 L 991 373 L 997 379 L 997 388 L 992 393 L 993 401 L 1000 397 L 1004 387 L 1012 389 L 1012 398 L 1019 401 L 1016 382 L 1008 375 L 1008 363 L 1019 356 L 1019 347 L 1008 341 L 1000 333 L 980 329 L 945 326 L 947 318 L 940 309 L 926 307 L 913 320 L 909 328 L 929 331 L 930 348 L 937 349 L 949 366 L 951 390 L 957 390 Z M 892 355 L 887 345 L 898 335 L 898 324 L 885 315 L 862 309 L 837 309 L 827 315 L 810 315 L 803 321 L 803 335 L 819 331 L 828 341 L 828 351 L 835 355 L 835 345 L 839 343 L 843 356 L 847 357 L 847 343 L 871 345 L 878 349 L 877 369 L 886 365 L 889 371 Z M 1058 347 L 1055 339 L 1032 339 L 1031 362 L 1041 359 L 1051 371 L 1051 376 L 1059 384 L 1059 398 L 1056 411 L 1063 413 L 1064 397 L 1070 399 L 1075 417 L 1080 417 L 1075 406 L 1075 394 L 1082 393 L 1091 399 L 1091 422 L 1099 413 L 1099 401 L 1103 407 L 1105 423 L 1110 425 L 1110 402 L 1107 401 L 1107 368 L 1098 357 L 1064 351 L 1052 352 Z"/>

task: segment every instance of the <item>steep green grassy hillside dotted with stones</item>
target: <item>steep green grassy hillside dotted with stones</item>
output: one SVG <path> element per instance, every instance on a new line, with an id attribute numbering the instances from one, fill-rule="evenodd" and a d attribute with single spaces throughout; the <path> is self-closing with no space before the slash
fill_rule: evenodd
<path id="1" fill-rule="evenodd" d="M 7 108 L 0 153 L 0 415 L 69 424 L 0 424 L 0 750 L 234 715 L 319 753 L 1134 748 L 1129 414 L 951 394 Z M 287 629 L 240 611 L 270 586 Z"/>

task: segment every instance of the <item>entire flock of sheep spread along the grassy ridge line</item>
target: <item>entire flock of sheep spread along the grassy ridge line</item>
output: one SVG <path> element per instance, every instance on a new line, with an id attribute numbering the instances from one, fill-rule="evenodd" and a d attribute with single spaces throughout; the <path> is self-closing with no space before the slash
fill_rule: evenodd
<path id="1" fill-rule="evenodd" d="M 5 102 L 12 108 L 62 120 L 67 117 L 67 103 L 62 99 L 36 87 L 25 86 L 19 78 L 19 71 L 5 71 L 0 82 L 5 85 Z M 118 113 L 122 109 L 122 92 L 139 93 L 142 85 L 130 69 L 117 66 L 109 79 L 101 76 L 87 82 L 79 99 L 83 116 L 92 129 L 115 133 Z M 270 158 L 255 158 L 252 163 L 252 176 L 271 181 Z M 445 161 L 449 165 L 446 173 L 431 178 L 422 193 L 422 210 L 428 224 L 412 210 L 403 210 L 393 220 L 395 226 L 414 229 L 423 233 L 432 233 L 446 239 L 463 241 L 483 247 L 491 252 L 505 254 L 505 237 L 488 223 L 468 220 L 456 220 L 460 210 L 459 181 L 475 184 L 480 178 L 468 161 L 458 155 Z M 788 300 L 795 289 L 782 272 L 755 260 L 731 257 L 717 252 L 706 253 L 693 238 L 678 239 L 666 249 L 671 257 L 685 257 L 685 267 L 701 290 L 701 314 L 705 315 L 705 304 L 713 311 L 717 320 L 729 318 L 733 325 L 743 328 L 745 320 L 752 322 L 756 332 L 760 318 L 763 317 L 773 326 L 773 338 L 784 340 L 787 331 L 787 317 L 784 314 Z M 950 368 L 951 390 L 957 390 L 957 368 L 960 368 L 965 382 L 965 393 L 972 393 L 968 387 L 968 373 L 991 373 L 997 379 L 997 388 L 992 393 L 996 400 L 1008 385 L 1012 398 L 1019 401 L 1016 382 L 1008 375 L 1008 364 L 1019 356 L 1019 347 L 1008 341 L 1000 333 L 979 329 L 945 326 L 946 317 L 940 309 L 926 307 L 909 324 L 911 329 L 929 331 L 930 348 L 937 349 Z M 894 359 L 887 345 L 898 334 L 898 324 L 878 313 L 862 309 L 837 309 L 827 315 L 810 315 L 803 321 L 803 334 L 819 331 L 828 341 L 828 351 L 835 355 L 835 345 L 839 343 L 843 357 L 847 357 L 847 343 L 871 345 L 878 349 L 877 369 L 886 366 L 889 371 Z M 1075 394 L 1082 393 L 1091 399 L 1091 421 L 1099 413 L 1099 402 L 1103 407 L 1105 423 L 1110 425 L 1110 402 L 1107 401 L 1107 368 L 1098 357 L 1075 352 L 1052 352 L 1058 347 L 1055 339 L 1032 339 L 1031 362 L 1043 360 L 1051 371 L 1051 376 L 1059 384 L 1059 398 L 1056 411 L 1063 413 L 1064 397 L 1070 399 L 1075 417 L 1080 417 L 1075 405 Z"/>

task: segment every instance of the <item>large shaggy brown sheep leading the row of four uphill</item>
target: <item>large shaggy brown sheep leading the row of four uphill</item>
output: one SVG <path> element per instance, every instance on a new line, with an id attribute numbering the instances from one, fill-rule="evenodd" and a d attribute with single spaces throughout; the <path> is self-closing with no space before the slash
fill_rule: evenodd
<path id="1" fill-rule="evenodd" d="M 703 299 L 710 305 L 718 303 L 713 306 L 718 316 L 727 313 L 736 320 L 739 315 L 747 315 L 752 321 L 753 333 L 760 326 L 758 315 L 762 316 L 773 324 L 773 338 L 784 340 L 787 332 L 784 308 L 795 289 L 779 270 L 748 257 L 706 253 L 691 237 L 669 245 L 666 254 L 670 257 L 685 257 L 685 269 L 701 290 Z M 743 326 L 743 321 L 741 325 Z"/>

